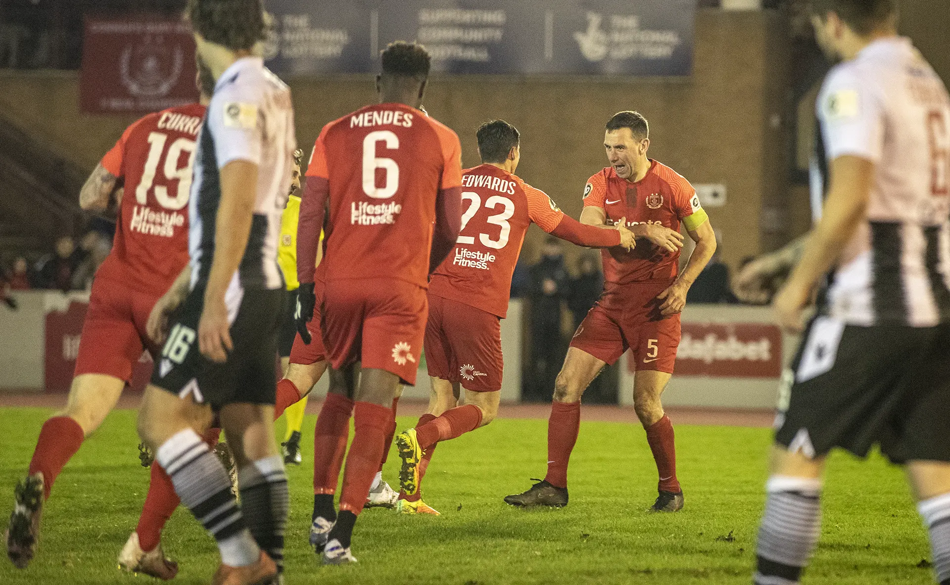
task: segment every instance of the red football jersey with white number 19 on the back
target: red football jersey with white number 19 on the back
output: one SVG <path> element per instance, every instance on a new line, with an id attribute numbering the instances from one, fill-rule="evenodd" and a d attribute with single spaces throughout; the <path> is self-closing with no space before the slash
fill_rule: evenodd
<path id="1" fill-rule="evenodd" d="M 188 198 L 204 106 L 148 114 L 102 160 L 125 192 L 112 252 L 97 276 L 163 293 L 188 262 Z"/>

